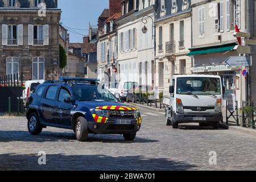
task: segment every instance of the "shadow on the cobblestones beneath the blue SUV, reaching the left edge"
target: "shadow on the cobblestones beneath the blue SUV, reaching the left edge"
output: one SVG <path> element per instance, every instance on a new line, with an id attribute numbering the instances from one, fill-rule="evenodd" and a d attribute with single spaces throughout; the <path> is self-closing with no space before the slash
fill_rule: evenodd
<path id="1" fill-rule="evenodd" d="M 40 135 L 31 135 L 28 131 L 0 131 L 0 142 L 78 142 L 74 133 L 42 131 Z M 122 135 L 89 134 L 87 142 L 103 143 L 151 143 L 159 142 L 147 138 L 136 137 L 134 141 L 125 141 Z M 86 142 L 85 142 L 86 143 Z"/>

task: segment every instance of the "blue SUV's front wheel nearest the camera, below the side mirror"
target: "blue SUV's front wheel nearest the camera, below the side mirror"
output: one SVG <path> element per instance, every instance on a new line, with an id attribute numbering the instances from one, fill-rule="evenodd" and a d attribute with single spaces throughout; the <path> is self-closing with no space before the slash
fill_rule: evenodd
<path id="1" fill-rule="evenodd" d="M 76 119 L 76 139 L 85 142 L 88 139 L 88 123 L 84 117 Z"/>

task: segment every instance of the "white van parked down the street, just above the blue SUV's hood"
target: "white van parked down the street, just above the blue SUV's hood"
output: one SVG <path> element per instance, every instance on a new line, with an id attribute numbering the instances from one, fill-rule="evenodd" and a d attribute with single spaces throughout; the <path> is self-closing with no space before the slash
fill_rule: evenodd
<path id="1" fill-rule="evenodd" d="M 133 92 L 134 88 L 137 88 L 138 83 L 132 81 L 121 81 L 119 82 L 118 88 L 115 91 L 115 97 L 119 100 L 125 100 L 128 92 Z"/>

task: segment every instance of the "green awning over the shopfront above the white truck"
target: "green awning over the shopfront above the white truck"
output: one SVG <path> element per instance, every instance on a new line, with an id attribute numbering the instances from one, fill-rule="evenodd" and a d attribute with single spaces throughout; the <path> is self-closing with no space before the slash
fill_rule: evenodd
<path id="1" fill-rule="evenodd" d="M 235 46 L 236 46 L 236 44 L 233 44 L 232 46 L 230 46 L 230 44 L 229 44 L 229 45 L 218 46 L 218 47 L 204 47 L 204 48 L 192 49 L 191 52 L 188 53 L 188 56 L 205 55 L 207 53 L 233 51 Z"/>

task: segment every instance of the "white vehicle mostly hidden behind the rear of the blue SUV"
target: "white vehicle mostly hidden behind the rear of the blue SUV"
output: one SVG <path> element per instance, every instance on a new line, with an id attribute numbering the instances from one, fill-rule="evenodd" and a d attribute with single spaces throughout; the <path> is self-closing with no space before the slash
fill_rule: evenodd
<path id="1" fill-rule="evenodd" d="M 22 93 L 23 103 L 25 107 L 27 107 L 28 100 L 31 96 L 31 93 L 35 91 L 36 86 L 38 86 L 39 84 L 42 84 L 43 82 L 44 80 L 29 80 L 25 82 L 24 84 L 25 89 L 23 90 L 23 93 Z"/>

